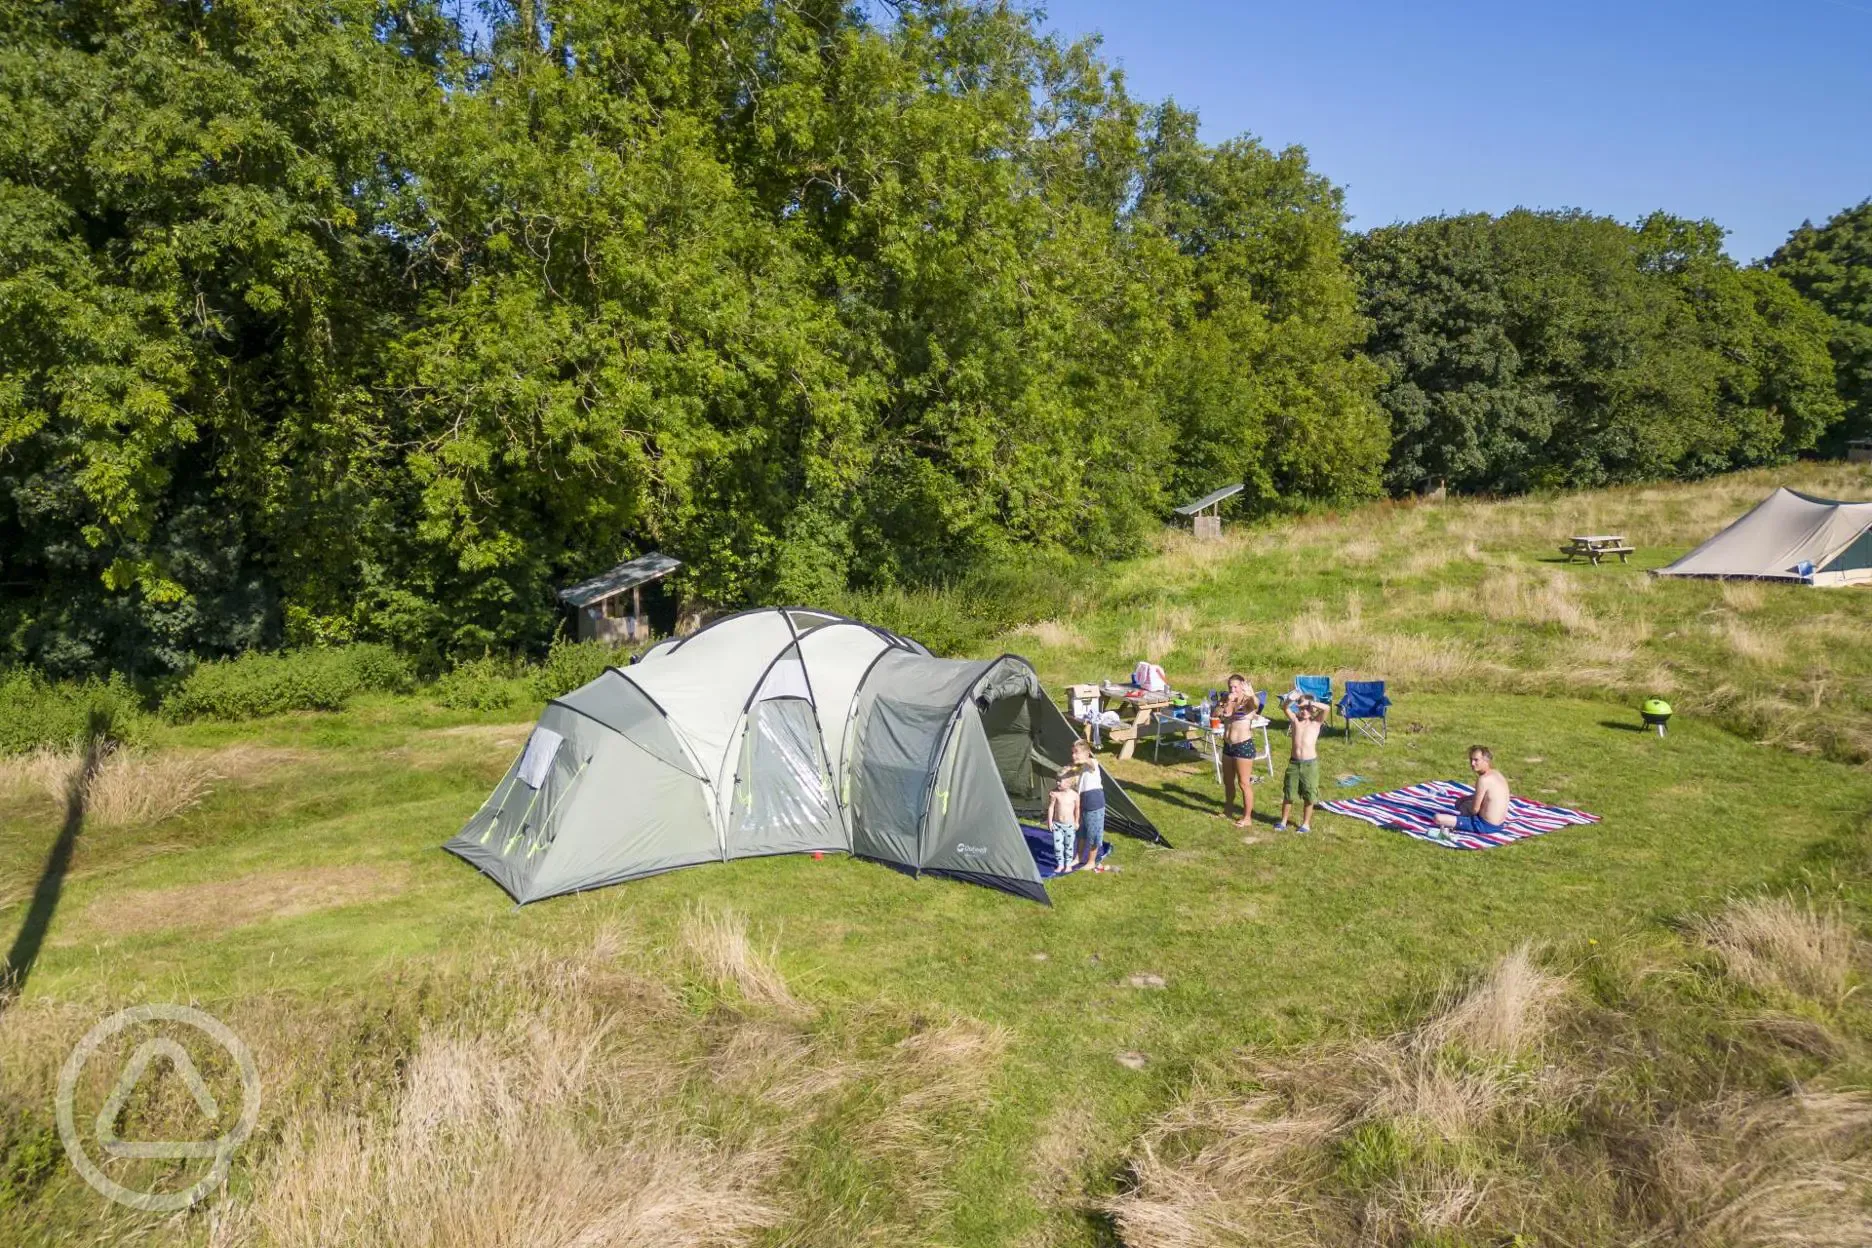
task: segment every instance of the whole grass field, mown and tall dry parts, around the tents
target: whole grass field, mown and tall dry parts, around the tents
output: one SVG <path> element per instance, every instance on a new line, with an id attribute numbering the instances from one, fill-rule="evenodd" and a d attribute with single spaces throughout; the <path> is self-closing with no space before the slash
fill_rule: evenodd
<path id="1" fill-rule="evenodd" d="M 1803 466 L 1168 537 L 979 647 L 1054 689 L 1140 657 L 1196 690 L 1385 677 L 1389 743 L 1322 750 L 1348 791 L 1484 741 L 1604 816 L 1486 853 L 1277 834 L 1265 784 L 1245 836 L 1207 763 L 1146 748 L 1106 762 L 1176 848 L 1121 842 L 1050 909 L 846 859 L 515 909 L 438 846 L 524 717 L 159 728 L 97 771 L 0 1014 L 0 1239 L 1866 1242 L 1872 591 L 1645 576 L 1780 481 L 1872 496 Z M 1561 565 L 1574 531 L 1640 556 Z M 62 767 L 0 762 L 7 932 Z M 51 1123 L 71 1042 L 142 1001 L 227 1020 L 268 1089 L 180 1216 L 105 1205 Z"/>

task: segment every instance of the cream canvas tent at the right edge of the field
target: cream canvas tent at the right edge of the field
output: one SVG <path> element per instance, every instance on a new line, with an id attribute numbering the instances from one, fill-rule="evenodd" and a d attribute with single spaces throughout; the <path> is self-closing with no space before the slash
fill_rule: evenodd
<path id="1" fill-rule="evenodd" d="M 1872 503 L 1780 488 L 1659 576 L 1762 576 L 1810 586 L 1872 582 Z"/>

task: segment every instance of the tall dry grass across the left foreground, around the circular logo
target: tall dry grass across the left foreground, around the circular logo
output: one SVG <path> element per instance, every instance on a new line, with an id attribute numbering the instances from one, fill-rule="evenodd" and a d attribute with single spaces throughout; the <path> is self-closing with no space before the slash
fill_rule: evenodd
<path id="1" fill-rule="evenodd" d="M 734 915 L 695 911 L 678 945 L 672 962 L 605 928 L 586 951 L 474 954 L 358 1001 L 206 1003 L 255 1050 L 260 1130 L 225 1192 L 189 1218 L 139 1226 L 139 1242 L 947 1239 L 962 1199 L 955 1158 L 981 1130 L 1007 1037 L 884 1007 L 820 1018 Z M 709 1003 L 695 980 L 668 979 L 680 967 L 736 997 Z M 749 1009 L 749 986 L 762 1009 Z M 58 1065 L 95 1018 L 97 1007 L 51 999 L 0 1012 L 0 1111 L 51 1130 Z M 116 1068 L 86 1068 L 84 1113 Z M 142 1106 L 127 1128 L 182 1138 L 195 1108 L 185 1093 L 172 1100 Z M 820 1183 L 848 1173 L 874 1186 L 854 1199 Z M 99 1222 L 92 1239 L 118 1242 L 118 1229 Z"/>

